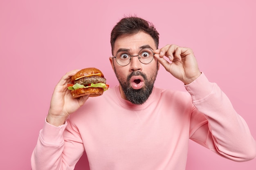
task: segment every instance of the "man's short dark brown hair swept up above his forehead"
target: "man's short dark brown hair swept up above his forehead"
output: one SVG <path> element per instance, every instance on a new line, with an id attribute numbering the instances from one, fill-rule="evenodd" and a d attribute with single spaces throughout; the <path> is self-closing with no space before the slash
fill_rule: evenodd
<path id="1" fill-rule="evenodd" d="M 131 16 L 131 17 L 125 17 L 121 19 L 112 29 L 111 37 L 110 37 L 112 53 L 113 53 L 115 41 L 117 40 L 119 35 L 135 34 L 135 33 L 138 33 L 139 31 L 143 31 L 149 34 L 155 41 L 155 45 L 158 48 L 159 33 L 155 29 L 155 26 L 152 23 L 142 18 Z"/>

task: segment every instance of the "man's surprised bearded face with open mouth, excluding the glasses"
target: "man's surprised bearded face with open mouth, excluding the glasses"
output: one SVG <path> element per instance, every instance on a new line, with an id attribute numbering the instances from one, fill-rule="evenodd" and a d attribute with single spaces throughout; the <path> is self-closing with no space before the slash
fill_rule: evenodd
<path id="1" fill-rule="evenodd" d="M 143 104 L 146 102 L 153 90 L 159 64 L 156 58 L 152 62 L 143 64 L 139 61 L 139 51 L 149 48 L 156 49 L 153 38 L 144 32 L 132 35 L 121 35 L 117 38 L 113 49 L 115 56 L 119 51 L 126 51 L 131 57 L 130 64 L 120 66 L 115 58 L 110 57 L 110 63 L 115 71 L 120 84 L 121 97 L 129 100 L 133 104 Z"/>

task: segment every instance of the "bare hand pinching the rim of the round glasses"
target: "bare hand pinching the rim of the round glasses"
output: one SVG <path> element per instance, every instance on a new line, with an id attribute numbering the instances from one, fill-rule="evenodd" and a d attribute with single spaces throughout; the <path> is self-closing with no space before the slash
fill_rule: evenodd
<path id="1" fill-rule="evenodd" d="M 184 84 L 193 82 L 201 75 L 193 51 L 189 48 L 172 44 L 166 45 L 162 49 L 157 49 L 154 53 L 166 71 L 180 79 Z M 164 56 L 168 57 L 170 62 Z"/>

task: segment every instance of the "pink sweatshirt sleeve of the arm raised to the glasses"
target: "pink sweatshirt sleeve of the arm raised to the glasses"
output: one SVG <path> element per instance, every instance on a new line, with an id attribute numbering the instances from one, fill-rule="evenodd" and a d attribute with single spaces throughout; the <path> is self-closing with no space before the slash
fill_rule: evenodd
<path id="1" fill-rule="evenodd" d="M 191 125 L 198 125 L 191 130 L 190 139 L 234 161 L 254 159 L 255 140 L 217 84 L 209 82 L 202 73 L 185 88 L 195 106 Z"/>

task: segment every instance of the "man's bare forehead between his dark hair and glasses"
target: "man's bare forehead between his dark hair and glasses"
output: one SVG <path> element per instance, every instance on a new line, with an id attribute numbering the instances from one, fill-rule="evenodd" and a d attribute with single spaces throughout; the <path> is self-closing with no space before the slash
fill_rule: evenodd
<path id="1" fill-rule="evenodd" d="M 128 49 L 129 51 L 138 51 L 141 46 L 150 46 L 156 49 L 154 39 L 147 33 L 138 32 L 136 34 L 120 35 L 114 44 L 113 52 L 119 49 Z"/>

